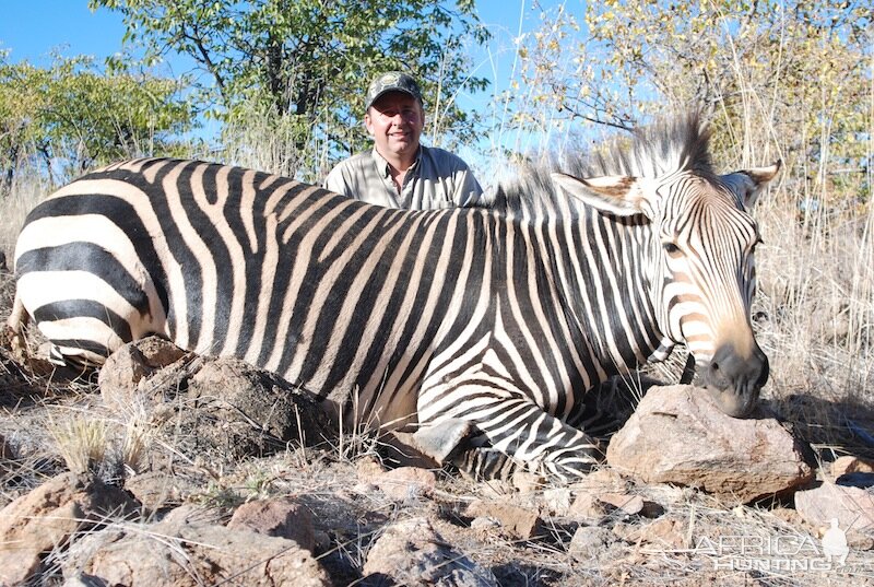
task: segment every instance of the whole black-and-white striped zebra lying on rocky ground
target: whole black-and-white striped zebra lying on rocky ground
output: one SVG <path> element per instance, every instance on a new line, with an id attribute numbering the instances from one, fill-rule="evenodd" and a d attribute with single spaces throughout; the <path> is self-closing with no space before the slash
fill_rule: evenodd
<path id="1" fill-rule="evenodd" d="M 746 210 L 779 165 L 719 176 L 707 143 L 692 116 L 565 168 L 586 179 L 533 169 L 493 208 L 417 212 L 235 167 L 120 163 L 27 216 L 10 325 L 25 308 L 59 356 L 92 362 L 160 333 L 347 416 L 472 423 L 484 453 L 566 476 L 598 457 L 574 427 L 586 390 L 675 343 L 727 413 L 767 379 Z"/>

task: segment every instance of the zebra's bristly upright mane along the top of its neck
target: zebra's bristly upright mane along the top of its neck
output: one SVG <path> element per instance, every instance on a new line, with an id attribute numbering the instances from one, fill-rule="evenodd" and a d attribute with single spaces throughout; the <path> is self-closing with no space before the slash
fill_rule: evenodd
<path id="1" fill-rule="evenodd" d="M 550 173 L 559 171 L 576 177 L 629 175 L 656 178 L 681 171 L 714 175 L 709 152 L 710 131 L 698 113 L 663 119 L 635 130 L 631 138 L 619 138 L 589 153 L 575 152 L 562 160 L 525 164 L 518 177 L 501 184 L 493 208 L 510 211 L 552 209 L 556 190 Z"/>

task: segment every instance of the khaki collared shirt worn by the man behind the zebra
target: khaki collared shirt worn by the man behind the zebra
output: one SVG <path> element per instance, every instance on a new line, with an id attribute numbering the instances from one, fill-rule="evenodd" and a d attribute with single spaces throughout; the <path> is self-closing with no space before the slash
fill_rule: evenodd
<path id="1" fill-rule="evenodd" d="M 473 206 L 483 193 L 460 157 L 424 145 L 418 148 L 400 193 L 388 162 L 376 149 L 341 161 L 324 178 L 324 187 L 363 202 L 410 210 Z"/>

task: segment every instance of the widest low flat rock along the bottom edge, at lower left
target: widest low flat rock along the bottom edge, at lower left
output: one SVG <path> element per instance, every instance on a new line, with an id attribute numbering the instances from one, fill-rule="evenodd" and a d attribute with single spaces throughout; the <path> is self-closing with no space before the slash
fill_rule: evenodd
<path id="1" fill-rule="evenodd" d="M 331 585 L 292 540 L 178 519 L 94 532 L 74 544 L 63 565 L 64 577 L 128 587 Z"/>

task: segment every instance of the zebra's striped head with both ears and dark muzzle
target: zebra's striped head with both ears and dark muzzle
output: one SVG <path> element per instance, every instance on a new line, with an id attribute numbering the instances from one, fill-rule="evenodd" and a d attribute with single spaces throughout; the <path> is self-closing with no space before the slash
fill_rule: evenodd
<path id="1" fill-rule="evenodd" d="M 769 371 L 751 324 L 760 237 L 749 210 L 780 162 L 717 175 L 697 118 L 684 129 L 678 145 L 669 140 L 641 149 L 651 137 L 638 137 L 622 175 L 553 174 L 553 180 L 602 213 L 646 218 L 641 270 L 659 329 L 672 343 L 687 345 L 699 380 L 723 412 L 741 418 L 755 406 Z M 628 163 L 648 155 L 673 163 Z"/>

